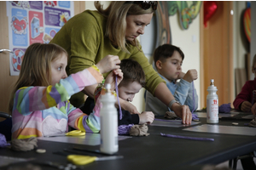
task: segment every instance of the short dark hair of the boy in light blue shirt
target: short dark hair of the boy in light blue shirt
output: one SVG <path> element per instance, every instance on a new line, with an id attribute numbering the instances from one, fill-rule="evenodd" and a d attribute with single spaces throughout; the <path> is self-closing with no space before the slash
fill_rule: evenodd
<path id="1" fill-rule="evenodd" d="M 169 43 L 160 45 L 158 48 L 154 50 L 154 65 L 158 60 L 164 62 L 166 59 L 172 57 L 174 51 L 177 51 L 184 59 L 185 56 L 180 48 Z"/>

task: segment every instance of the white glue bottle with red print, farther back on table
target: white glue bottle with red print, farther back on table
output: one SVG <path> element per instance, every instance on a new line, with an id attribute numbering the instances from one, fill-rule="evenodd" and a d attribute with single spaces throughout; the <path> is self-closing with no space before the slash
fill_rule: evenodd
<path id="1" fill-rule="evenodd" d="M 218 123 L 218 95 L 214 79 L 211 79 L 211 84 L 207 88 L 207 123 Z"/>

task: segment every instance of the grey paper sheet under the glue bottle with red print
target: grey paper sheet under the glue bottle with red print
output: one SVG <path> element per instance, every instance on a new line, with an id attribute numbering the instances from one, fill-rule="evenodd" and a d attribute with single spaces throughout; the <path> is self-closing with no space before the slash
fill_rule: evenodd
<path id="1" fill-rule="evenodd" d="M 253 127 L 231 127 L 231 126 L 203 124 L 201 126 L 184 128 L 183 130 L 199 132 L 199 133 L 224 133 L 224 134 L 240 134 L 240 135 L 248 135 L 248 136 L 256 135 L 255 128 Z"/>

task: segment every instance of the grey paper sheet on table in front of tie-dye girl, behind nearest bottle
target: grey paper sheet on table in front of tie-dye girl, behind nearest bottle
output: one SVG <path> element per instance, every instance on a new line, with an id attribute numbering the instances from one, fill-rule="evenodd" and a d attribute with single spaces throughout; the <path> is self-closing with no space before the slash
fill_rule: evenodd
<path id="1" fill-rule="evenodd" d="M 130 136 L 119 136 L 119 140 L 131 138 Z M 84 136 L 55 136 L 55 137 L 38 137 L 38 140 L 47 140 L 69 144 L 101 144 L 100 133 L 86 133 Z"/>

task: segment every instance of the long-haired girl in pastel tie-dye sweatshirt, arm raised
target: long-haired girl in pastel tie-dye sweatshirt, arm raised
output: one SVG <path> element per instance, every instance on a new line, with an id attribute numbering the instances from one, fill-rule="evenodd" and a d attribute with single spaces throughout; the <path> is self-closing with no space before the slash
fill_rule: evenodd
<path id="1" fill-rule="evenodd" d="M 88 133 L 100 131 L 100 103 L 90 115 L 73 107 L 71 95 L 102 82 L 102 73 L 111 71 L 122 80 L 118 56 L 107 56 L 96 65 L 67 77 L 67 52 L 55 44 L 33 43 L 26 49 L 20 76 L 9 102 L 12 113 L 13 139 L 49 136 L 66 133 L 68 126 Z"/>

